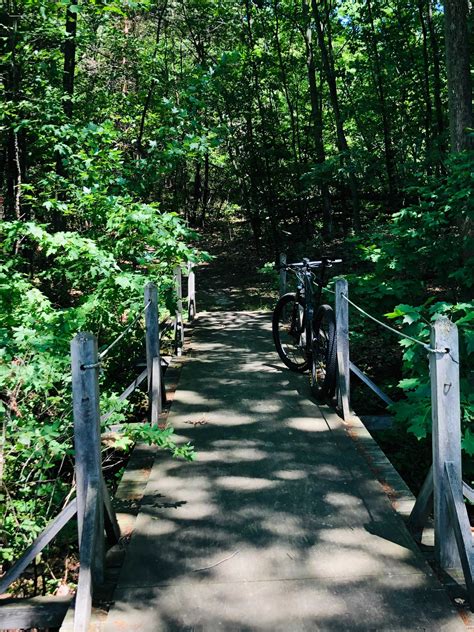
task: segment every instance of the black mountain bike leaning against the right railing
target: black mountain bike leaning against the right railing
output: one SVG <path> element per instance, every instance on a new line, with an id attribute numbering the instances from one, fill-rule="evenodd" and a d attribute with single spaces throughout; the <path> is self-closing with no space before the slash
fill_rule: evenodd
<path id="1" fill-rule="evenodd" d="M 318 399 L 332 397 L 336 390 L 336 318 L 332 307 L 321 303 L 326 272 L 336 263 L 342 260 L 303 259 L 282 266 L 296 275 L 297 287 L 279 299 L 272 319 L 278 355 L 292 371 L 309 369 L 311 391 Z"/>

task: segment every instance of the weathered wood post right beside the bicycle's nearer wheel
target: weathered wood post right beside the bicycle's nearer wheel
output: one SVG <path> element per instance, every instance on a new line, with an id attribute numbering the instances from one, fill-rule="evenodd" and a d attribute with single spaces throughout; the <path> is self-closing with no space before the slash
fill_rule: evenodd
<path id="1" fill-rule="evenodd" d="M 337 402 L 343 419 L 350 417 L 350 358 L 349 358 L 349 286 L 344 278 L 336 279 L 336 349 Z"/>

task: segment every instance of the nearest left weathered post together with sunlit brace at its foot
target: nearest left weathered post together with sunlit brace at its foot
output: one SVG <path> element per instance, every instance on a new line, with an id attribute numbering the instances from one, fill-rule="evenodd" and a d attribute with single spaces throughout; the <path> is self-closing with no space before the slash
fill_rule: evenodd
<path id="1" fill-rule="evenodd" d="M 77 522 L 80 575 L 74 629 L 86 630 L 93 583 L 104 581 L 104 505 L 100 450 L 97 339 L 79 333 L 71 342 Z"/>

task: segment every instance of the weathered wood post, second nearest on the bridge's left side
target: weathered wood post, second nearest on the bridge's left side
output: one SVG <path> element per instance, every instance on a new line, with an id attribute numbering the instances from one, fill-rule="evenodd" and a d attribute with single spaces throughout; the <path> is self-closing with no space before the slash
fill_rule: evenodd
<path id="1" fill-rule="evenodd" d="M 163 388 L 160 359 L 160 324 L 158 311 L 158 290 L 154 283 L 145 285 L 145 337 L 146 366 L 148 371 L 148 401 L 150 405 L 150 423 L 158 424 L 161 412 L 161 389 Z"/>

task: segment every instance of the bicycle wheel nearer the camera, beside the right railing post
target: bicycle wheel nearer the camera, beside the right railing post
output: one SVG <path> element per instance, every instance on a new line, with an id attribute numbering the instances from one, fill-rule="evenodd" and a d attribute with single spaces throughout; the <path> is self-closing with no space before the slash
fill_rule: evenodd
<path id="1" fill-rule="evenodd" d="M 336 318 L 329 305 L 321 305 L 313 321 L 309 381 L 316 399 L 328 399 L 336 392 Z"/>

